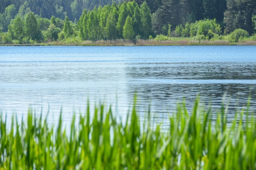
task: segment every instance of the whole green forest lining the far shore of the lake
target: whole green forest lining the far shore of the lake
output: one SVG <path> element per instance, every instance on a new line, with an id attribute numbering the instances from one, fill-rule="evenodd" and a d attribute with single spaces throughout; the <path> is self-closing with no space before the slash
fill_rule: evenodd
<path id="1" fill-rule="evenodd" d="M 255 0 L 6 0 L 0 44 L 54 41 L 256 40 Z"/>

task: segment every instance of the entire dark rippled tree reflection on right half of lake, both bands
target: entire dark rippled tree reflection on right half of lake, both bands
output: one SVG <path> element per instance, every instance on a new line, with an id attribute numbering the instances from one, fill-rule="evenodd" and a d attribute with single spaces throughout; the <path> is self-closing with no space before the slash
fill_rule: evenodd
<path id="1" fill-rule="evenodd" d="M 246 68 L 245 68 L 246 67 Z M 185 99 L 186 107 L 191 111 L 198 94 L 200 101 L 213 112 L 219 111 L 222 102 L 229 105 L 229 117 L 234 117 L 237 109 L 247 105 L 251 94 L 251 110 L 256 108 L 256 89 L 253 84 L 218 83 L 225 79 L 256 79 L 255 64 L 223 62 L 180 62 L 180 63 L 141 63 L 126 67 L 127 76 L 132 79 L 128 94 L 137 92 L 140 110 L 145 112 L 150 103 L 151 110 L 161 113 L 163 118 L 175 111 L 177 103 Z M 175 80 L 208 80 L 215 83 L 175 82 Z M 168 80 L 164 82 L 164 80 Z M 224 95 L 226 96 L 223 99 Z M 158 115 L 159 116 L 159 115 Z M 161 117 L 161 116 L 160 116 Z"/>

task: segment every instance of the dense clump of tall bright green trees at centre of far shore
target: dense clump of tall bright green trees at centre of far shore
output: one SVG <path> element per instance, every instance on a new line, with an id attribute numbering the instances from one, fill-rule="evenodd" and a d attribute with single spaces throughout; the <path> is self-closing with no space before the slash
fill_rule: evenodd
<path id="1" fill-rule="evenodd" d="M 144 11 L 145 13 L 143 13 Z M 112 6 L 103 8 L 94 8 L 93 11 L 83 11 L 82 16 L 77 22 L 77 30 L 79 37 L 83 40 L 116 40 L 128 38 L 128 30 L 124 31 L 127 17 L 132 18 L 132 31 L 135 36 L 140 35 L 141 38 L 147 39 L 152 33 L 151 14 L 144 3 L 139 8 L 136 2 L 124 2 L 119 5 L 119 10 L 115 3 Z M 132 31 L 129 31 L 132 33 Z M 125 32 L 125 33 L 124 33 Z M 126 37 L 124 37 L 124 34 Z M 127 37 L 128 36 L 128 37 Z M 145 37 L 146 36 L 146 37 Z"/>

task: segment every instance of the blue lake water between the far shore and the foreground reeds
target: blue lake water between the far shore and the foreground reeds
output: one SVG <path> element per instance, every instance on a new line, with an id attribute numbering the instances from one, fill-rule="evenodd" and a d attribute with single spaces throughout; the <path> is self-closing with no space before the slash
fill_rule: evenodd
<path id="1" fill-rule="evenodd" d="M 256 112 L 256 46 L 26 46 L 0 47 L 0 111 L 20 119 L 29 107 L 57 121 L 85 113 L 87 101 L 112 105 L 122 116 L 137 93 L 139 111 L 159 121 L 177 102 L 200 100 L 218 110 L 226 94 L 229 117 Z M 144 114 L 142 114 L 144 117 Z"/>

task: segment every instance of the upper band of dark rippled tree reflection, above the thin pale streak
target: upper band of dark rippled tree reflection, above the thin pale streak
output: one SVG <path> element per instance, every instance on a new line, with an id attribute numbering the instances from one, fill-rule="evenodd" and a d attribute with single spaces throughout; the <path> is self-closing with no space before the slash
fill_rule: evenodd
<path id="1" fill-rule="evenodd" d="M 159 62 L 126 68 L 132 78 L 164 79 L 256 79 L 255 63 L 249 62 Z"/>

